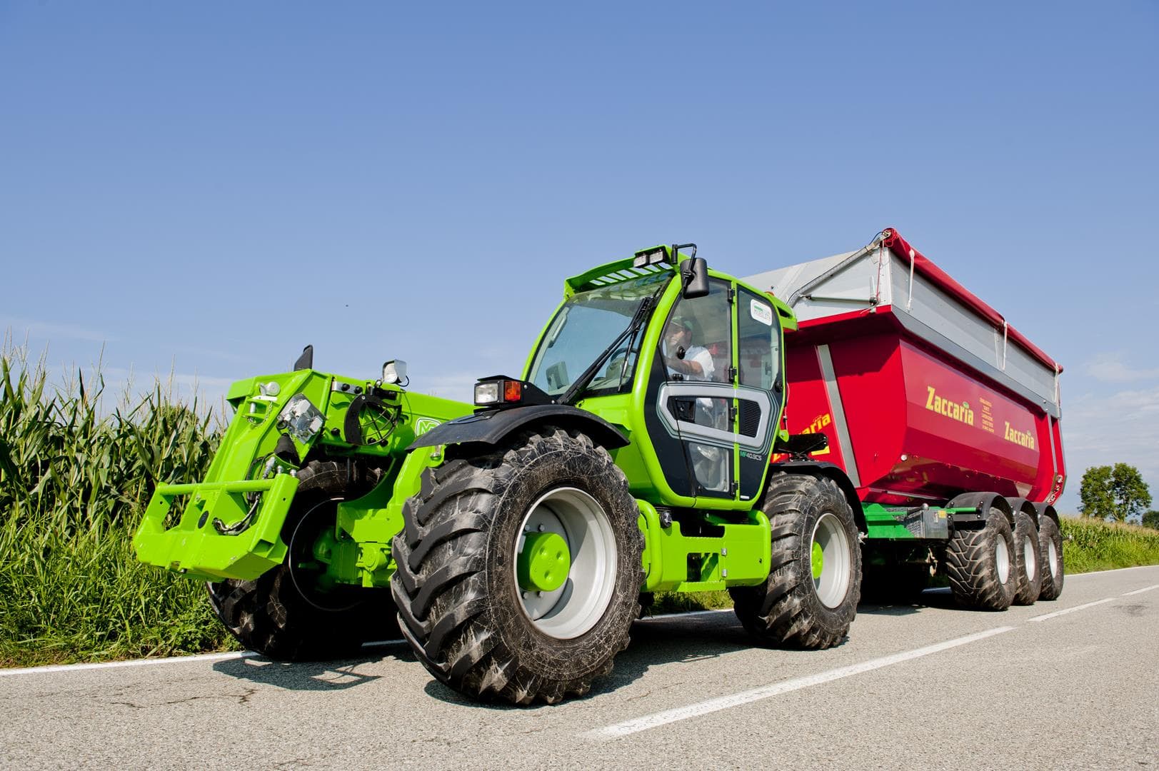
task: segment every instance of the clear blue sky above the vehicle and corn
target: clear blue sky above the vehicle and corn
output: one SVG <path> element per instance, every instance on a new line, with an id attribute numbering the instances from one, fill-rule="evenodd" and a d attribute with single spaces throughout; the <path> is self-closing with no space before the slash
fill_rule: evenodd
<path id="1" fill-rule="evenodd" d="M 466 398 L 567 275 L 896 226 L 1159 499 L 1159 5 L 0 0 L 0 329 L 212 399 L 311 342 Z"/>

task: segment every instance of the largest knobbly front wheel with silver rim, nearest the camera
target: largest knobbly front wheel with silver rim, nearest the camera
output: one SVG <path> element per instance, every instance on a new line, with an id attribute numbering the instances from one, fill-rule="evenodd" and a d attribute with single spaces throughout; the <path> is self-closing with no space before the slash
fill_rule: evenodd
<path id="1" fill-rule="evenodd" d="M 637 517 L 627 478 L 580 432 L 544 428 L 427 470 L 393 545 L 403 637 L 435 677 L 473 698 L 586 693 L 639 613 Z M 555 590 L 517 576 L 537 532 L 556 533 L 570 554 Z"/>

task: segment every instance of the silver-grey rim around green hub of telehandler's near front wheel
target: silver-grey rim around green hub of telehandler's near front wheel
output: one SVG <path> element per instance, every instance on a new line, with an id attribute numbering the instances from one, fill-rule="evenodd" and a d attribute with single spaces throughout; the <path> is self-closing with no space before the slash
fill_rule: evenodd
<path id="1" fill-rule="evenodd" d="M 569 558 L 563 562 L 570 561 L 567 579 L 551 591 L 520 587 L 520 572 L 526 573 L 530 560 L 524 551 L 545 541 L 539 533 L 562 538 Z M 531 504 L 518 538 L 511 569 L 520 608 L 535 628 L 568 640 L 596 626 L 612 601 L 617 570 L 615 531 L 596 499 L 575 487 L 545 493 Z M 554 548 L 559 539 L 548 543 Z"/>

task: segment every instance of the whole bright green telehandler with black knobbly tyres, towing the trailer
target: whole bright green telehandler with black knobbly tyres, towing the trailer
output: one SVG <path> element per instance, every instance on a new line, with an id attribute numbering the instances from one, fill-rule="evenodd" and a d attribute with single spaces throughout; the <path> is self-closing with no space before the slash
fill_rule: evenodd
<path id="1" fill-rule="evenodd" d="M 308 362 L 242 381 L 209 479 L 158 488 L 138 553 L 212 582 L 258 653 L 342 655 L 396 609 L 435 677 L 517 704 L 585 693 L 647 592 L 727 589 L 761 643 L 837 645 L 867 528 L 808 459 L 824 437 L 780 429 L 795 328 L 661 246 L 567 279 L 523 373 L 473 407 Z"/>

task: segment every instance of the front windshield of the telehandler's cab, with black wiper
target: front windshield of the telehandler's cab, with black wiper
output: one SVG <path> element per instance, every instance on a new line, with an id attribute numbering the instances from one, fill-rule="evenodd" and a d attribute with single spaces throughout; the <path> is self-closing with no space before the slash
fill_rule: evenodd
<path id="1" fill-rule="evenodd" d="M 532 359 L 529 380 L 557 397 L 622 333 L 646 297 L 657 292 L 672 274 L 662 271 L 574 294 L 544 334 Z M 586 395 L 618 393 L 632 383 L 640 332 L 612 351 L 584 388 Z"/>

